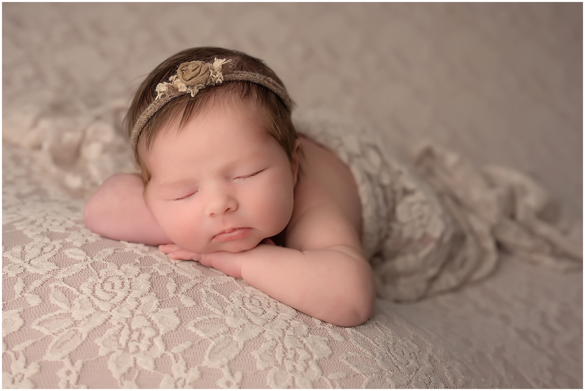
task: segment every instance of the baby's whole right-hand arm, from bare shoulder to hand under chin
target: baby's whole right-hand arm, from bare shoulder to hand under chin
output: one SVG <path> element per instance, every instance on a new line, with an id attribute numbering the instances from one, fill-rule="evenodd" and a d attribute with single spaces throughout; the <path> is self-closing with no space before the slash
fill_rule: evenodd
<path id="1" fill-rule="evenodd" d="M 301 138 L 303 174 L 286 230 L 287 248 L 260 244 L 242 252 L 196 254 L 177 245 L 160 250 L 243 278 L 274 299 L 339 326 L 368 319 L 376 292 L 362 256 L 360 200 L 349 169 L 330 151 Z"/>

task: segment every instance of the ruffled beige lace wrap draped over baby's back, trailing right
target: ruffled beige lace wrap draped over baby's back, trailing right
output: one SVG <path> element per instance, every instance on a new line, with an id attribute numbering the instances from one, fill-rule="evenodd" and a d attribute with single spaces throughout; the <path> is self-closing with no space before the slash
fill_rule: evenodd
<path id="1" fill-rule="evenodd" d="M 556 271 L 582 267 L 580 225 L 560 222 L 558 205 L 521 172 L 476 168 L 432 144 L 409 164 L 375 132 L 322 115 L 299 120 L 297 129 L 350 167 L 362 200 L 364 255 L 387 299 L 416 300 L 477 281 L 496 267 L 498 246 Z"/>

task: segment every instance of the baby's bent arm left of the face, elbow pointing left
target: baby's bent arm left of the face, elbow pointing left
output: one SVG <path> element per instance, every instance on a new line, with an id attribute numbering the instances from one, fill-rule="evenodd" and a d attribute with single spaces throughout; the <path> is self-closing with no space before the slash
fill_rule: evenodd
<path id="1" fill-rule="evenodd" d="M 144 185 L 137 175 L 118 174 L 99 186 L 85 203 L 88 229 L 116 240 L 159 245 L 173 243 L 146 207 Z"/>

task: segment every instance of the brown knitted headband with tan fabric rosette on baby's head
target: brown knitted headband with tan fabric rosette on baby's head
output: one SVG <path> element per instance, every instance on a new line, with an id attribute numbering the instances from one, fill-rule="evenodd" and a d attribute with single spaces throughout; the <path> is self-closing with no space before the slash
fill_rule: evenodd
<path id="1" fill-rule="evenodd" d="M 138 139 L 144 125 L 164 105 L 179 96 L 187 94 L 195 96 L 201 89 L 221 84 L 224 81 L 249 81 L 270 89 L 283 100 L 289 111 L 292 109 L 292 101 L 287 91 L 274 79 L 256 72 L 232 71 L 231 67 L 222 69 L 223 65 L 226 64 L 234 64 L 234 61 L 226 58 L 215 58 L 213 63 L 204 63 L 204 61 L 183 63 L 177 68 L 177 74 L 168 79 L 170 82 L 162 82 L 156 86 L 156 98 L 140 115 L 130 135 L 130 144 L 136 162 L 139 162 Z"/>

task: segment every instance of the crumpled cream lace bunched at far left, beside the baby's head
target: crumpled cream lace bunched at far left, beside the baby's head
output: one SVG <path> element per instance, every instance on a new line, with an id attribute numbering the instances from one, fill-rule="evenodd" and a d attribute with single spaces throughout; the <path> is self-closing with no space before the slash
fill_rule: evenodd
<path id="1" fill-rule="evenodd" d="M 124 99 L 104 105 L 61 99 L 14 108 L 3 118 L 2 139 L 30 151 L 43 188 L 87 199 L 106 178 L 138 172 L 121 132 L 127 110 Z"/>

